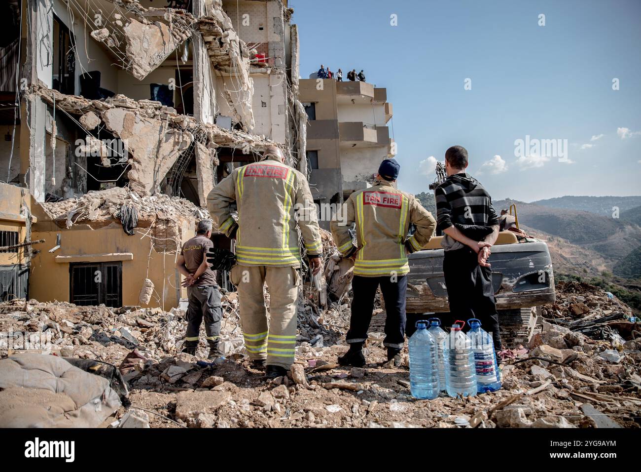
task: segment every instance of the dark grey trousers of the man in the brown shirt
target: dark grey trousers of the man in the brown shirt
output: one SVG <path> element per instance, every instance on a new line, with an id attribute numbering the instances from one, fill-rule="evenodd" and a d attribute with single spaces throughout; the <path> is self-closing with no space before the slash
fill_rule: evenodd
<path id="1" fill-rule="evenodd" d="M 218 341 L 221 335 L 222 304 L 221 292 L 213 285 L 192 285 L 187 287 L 187 334 L 185 340 L 198 342 L 200 325 L 204 318 L 204 330 L 208 344 Z"/>

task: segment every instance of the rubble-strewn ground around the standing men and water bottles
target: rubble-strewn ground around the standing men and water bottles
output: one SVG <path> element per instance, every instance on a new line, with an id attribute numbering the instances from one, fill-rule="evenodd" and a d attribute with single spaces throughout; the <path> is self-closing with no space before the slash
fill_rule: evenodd
<path id="1" fill-rule="evenodd" d="M 612 304 L 629 310 L 596 287 L 581 286 L 581 295 L 575 288 L 560 284 L 562 315 L 562 307 L 577 302 L 577 296 L 602 302 L 603 317 Z M 619 337 L 599 338 L 556 324 L 563 317 L 540 320 L 542 329 L 528 345 L 500 354 L 503 389 L 467 399 L 442 394 L 416 400 L 410 394 L 406 352 L 403 366 L 387 363 L 381 333 L 369 333 L 365 367 L 339 367 L 337 356 L 347 349 L 349 304 L 330 302 L 327 310 L 319 310 L 310 294 L 299 305 L 296 363 L 288 376 L 270 383 L 248 361 L 233 292 L 222 299 L 225 356 L 214 362 L 206 360 L 204 335 L 196 356 L 179 352 L 186 323 L 176 309 L 12 301 L 0 304 L 0 330 L 49 331 L 55 354 L 120 365 L 132 405 L 120 408 L 113 426 L 641 426 L 641 341 L 626 339 L 623 329 Z M 545 307 L 547 315 L 554 310 Z M 10 353 L 0 346 L 0 354 Z"/>

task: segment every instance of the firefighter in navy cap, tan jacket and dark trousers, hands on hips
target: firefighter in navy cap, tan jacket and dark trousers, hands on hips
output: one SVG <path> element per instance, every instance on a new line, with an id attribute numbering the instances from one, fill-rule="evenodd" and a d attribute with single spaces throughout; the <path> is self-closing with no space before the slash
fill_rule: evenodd
<path id="1" fill-rule="evenodd" d="M 401 364 L 399 353 L 405 341 L 405 295 L 410 272 L 407 254 L 427 245 L 436 222 L 412 195 L 392 186 L 400 168 L 395 159 L 381 162 L 376 185 L 352 193 L 343 205 L 343 213 L 338 215 L 342 221 L 337 216 L 331 222 L 338 250 L 354 259 L 354 298 L 346 337 L 349 351 L 338 358 L 340 365 L 365 365 L 363 343 L 367 340 L 378 286 L 387 310 L 383 340 L 387 360 Z M 356 245 L 349 234 L 354 223 Z M 412 223 L 416 231 L 408 238 Z"/>

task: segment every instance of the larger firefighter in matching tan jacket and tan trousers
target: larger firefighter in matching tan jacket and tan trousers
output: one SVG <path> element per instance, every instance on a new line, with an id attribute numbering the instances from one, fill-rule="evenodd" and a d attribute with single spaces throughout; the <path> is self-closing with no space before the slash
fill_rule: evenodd
<path id="1" fill-rule="evenodd" d="M 207 197 L 219 229 L 236 240 L 237 265 L 231 268 L 230 278 L 238 288 L 245 347 L 254 367 L 266 365 L 268 378 L 287 374 L 294 363 L 301 267 L 297 227 L 314 275 L 320 270 L 322 252 L 307 180 L 284 161 L 281 150 L 269 146 L 262 161 L 235 169 Z M 238 221 L 230 214 L 231 202 L 237 204 Z"/>

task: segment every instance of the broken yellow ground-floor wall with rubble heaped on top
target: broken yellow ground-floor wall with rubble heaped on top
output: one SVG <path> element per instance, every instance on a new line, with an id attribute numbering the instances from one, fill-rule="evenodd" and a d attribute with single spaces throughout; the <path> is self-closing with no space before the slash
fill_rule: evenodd
<path id="1" fill-rule="evenodd" d="M 123 231 L 122 205 L 137 208 L 135 234 Z M 140 197 L 127 189 L 91 192 L 79 199 L 34 205 L 38 222 L 33 238 L 45 239 L 31 263 L 30 296 L 39 301 L 69 301 L 69 263 L 122 261 L 122 304 L 138 305 L 146 278 L 155 291 L 149 306 L 178 306 L 181 290 L 174 269 L 181 244 L 194 235 L 203 209 L 167 195 Z M 60 249 L 49 252 L 61 235 Z"/>

